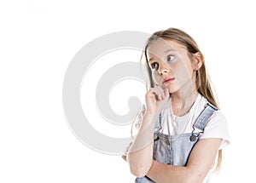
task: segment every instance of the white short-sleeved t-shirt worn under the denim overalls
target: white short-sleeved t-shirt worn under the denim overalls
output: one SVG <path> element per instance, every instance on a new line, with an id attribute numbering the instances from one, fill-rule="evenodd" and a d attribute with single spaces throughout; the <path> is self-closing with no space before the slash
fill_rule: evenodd
<path id="1" fill-rule="evenodd" d="M 172 113 L 171 101 L 167 102 L 165 108 L 161 112 L 162 129 L 160 129 L 160 133 L 169 135 L 191 133 L 196 118 L 200 115 L 207 103 L 207 99 L 201 94 L 198 94 L 195 103 L 189 112 L 182 117 L 177 117 Z M 143 108 L 145 108 L 145 106 L 143 106 Z M 140 124 L 142 122 L 142 117 L 143 114 L 137 117 L 135 123 Z M 200 131 L 201 130 L 199 129 L 195 129 L 195 133 Z M 224 146 L 230 144 L 228 124 L 224 114 L 219 110 L 213 112 L 212 117 L 210 117 L 207 126 L 204 129 L 204 133 L 200 136 L 200 139 L 207 138 L 222 139 L 219 149 L 223 149 Z"/>

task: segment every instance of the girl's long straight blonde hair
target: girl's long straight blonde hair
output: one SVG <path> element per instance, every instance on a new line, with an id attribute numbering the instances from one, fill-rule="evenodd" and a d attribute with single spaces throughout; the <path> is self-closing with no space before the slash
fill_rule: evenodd
<path id="1" fill-rule="evenodd" d="M 177 28 L 169 28 L 164 31 L 154 32 L 154 34 L 148 38 L 148 41 L 145 44 L 145 49 L 144 49 L 144 56 L 146 58 L 146 67 L 148 69 L 148 77 L 149 77 L 150 83 L 153 83 L 154 81 L 153 81 L 153 78 L 151 77 L 150 68 L 148 66 L 147 49 L 149 44 L 153 43 L 158 38 L 172 40 L 176 43 L 183 45 L 188 50 L 188 54 L 190 58 L 192 54 L 195 54 L 195 53 L 201 54 L 201 50 L 199 49 L 197 43 L 195 43 L 195 40 L 184 31 L 181 31 Z M 214 93 L 212 90 L 212 83 L 211 83 L 210 77 L 207 74 L 207 69 L 206 69 L 203 54 L 201 54 L 201 61 L 202 61 L 202 66 L 199 70 L 196 71 L 196 75 L 195 75 L 196 89 L 213 106 L 216 106 L 218 108 L 218 101 L 214 97 Z M 218 171 L 220 169 L 221 162 L 222 162 L 222 150 L 218 150 L 218 161 L 214 171 Z"/>

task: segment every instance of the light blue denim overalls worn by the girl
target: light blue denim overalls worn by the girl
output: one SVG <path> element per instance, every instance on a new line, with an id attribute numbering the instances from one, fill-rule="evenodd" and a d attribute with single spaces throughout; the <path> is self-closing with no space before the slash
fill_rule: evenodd
<path id="1" fill-rule="evenodd" d="M 217 108 L 207 103 L 203 111 L 196 118 L 193 124 L 193 131 L 189 134 L 179 135 L 161 134 L 159 132 L 162 128 L 160 114 L 159 120 L 155 125 L 153 159 L 160 163 L 186 166 L 193 146 L 200 139 L 200 134 L 204 132 L 209 118 L 215 111 L 217 111 Z M 199 129 L 200 132 L 195 133 L 195 129 Z M 137 177 L 135 182 L 155 183 L 147 176 Z"/>

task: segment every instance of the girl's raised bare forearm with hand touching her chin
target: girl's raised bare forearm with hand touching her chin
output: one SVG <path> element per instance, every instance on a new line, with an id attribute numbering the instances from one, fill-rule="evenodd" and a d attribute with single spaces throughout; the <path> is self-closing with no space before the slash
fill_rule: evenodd
<path id="1" fill-rule="evenodd" d="M 153 163 L 155 123 L 169 98 L 168 90 L 163 91 L 159 86 L 149 89 L 146 94 L 147 109 L 143 116 L 143 123 L 127 153 L 127 162 L 129 163 L 131 173 L 137 177 L 143 177 L 151 168 Z"/>

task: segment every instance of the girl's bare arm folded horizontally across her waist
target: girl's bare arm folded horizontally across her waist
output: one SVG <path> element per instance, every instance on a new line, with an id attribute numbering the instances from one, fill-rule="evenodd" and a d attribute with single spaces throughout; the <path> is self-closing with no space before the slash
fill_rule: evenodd
<path id="1" fill-rule="evenodd" d="M 199 140 L 190 153 L 187 166 L 173 166 L 153 161 L 147 175 L 158 183 L 202 182 L 212 168 L 220 144 L 221 139 Z"/>

